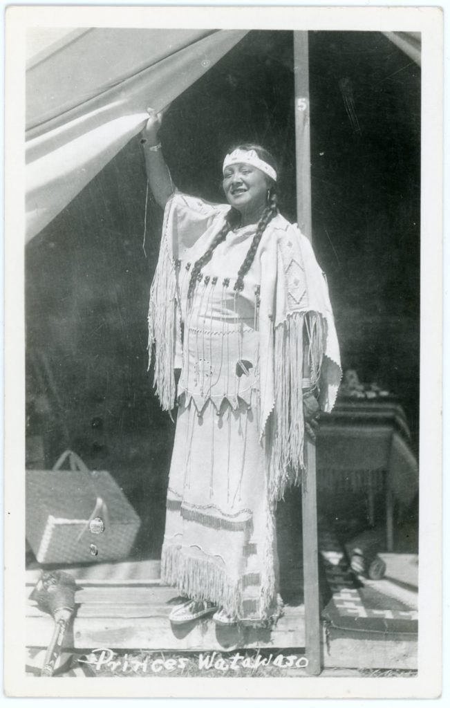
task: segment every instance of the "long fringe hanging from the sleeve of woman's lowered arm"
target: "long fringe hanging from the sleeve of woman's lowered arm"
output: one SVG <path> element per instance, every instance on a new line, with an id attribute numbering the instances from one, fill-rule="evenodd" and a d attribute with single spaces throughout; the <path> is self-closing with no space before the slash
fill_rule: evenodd
<path id="1" fill-rule="evenodd" d="M 316 312 L 294 312 L 275 327 L 275 406 L 270 430 L 269 497 L 278 501 L 304 474 L 302 371 L 308 348 L 311 383 L 317 384 L 325 348 L 325 321 Z M 306 342 L 305 342 L 306 335 Z"/>

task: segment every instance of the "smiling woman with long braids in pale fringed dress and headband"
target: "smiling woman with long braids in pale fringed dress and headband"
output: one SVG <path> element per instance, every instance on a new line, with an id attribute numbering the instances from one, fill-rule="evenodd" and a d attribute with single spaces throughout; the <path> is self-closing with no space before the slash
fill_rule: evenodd
<path id="1" fill-rule="evenodd" d="M 149 115 L 141 142 L 165 209 L 149 349 L 161 406 L 178 406 L 161 579 L 186 601 L 171 621 L 272 624 L 276 503 L 301 481 L 304 430 L 314 437 L 339 382 L 328 290 L 308 240 L 279 213 L 265 149 L 226 154 L 227 203 L 212 204 L 174 188 L 161 115 Z"/>

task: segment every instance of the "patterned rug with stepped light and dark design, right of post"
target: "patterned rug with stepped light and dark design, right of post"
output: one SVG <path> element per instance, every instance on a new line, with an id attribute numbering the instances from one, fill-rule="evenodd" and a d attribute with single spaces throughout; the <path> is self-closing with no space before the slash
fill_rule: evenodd
<path id="1" fill-rule="evenodd" d="M 417 555 L 379 554 L 386 562 L 381 580 L 350 569 L 333 527 L 318 527 L 323 619 L 337 629 L 383 634 L 417 634 Z"/>

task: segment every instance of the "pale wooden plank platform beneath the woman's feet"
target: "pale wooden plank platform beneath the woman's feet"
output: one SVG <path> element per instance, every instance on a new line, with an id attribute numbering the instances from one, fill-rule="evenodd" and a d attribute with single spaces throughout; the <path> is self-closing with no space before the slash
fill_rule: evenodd
<path id="1" fill-rule="evenodd" d="M 125 567 L 126 566 L 126 567 Z M 41 570 L 26 573 L 27 597 Z M 305 644 L 304 605 L 294 591 L 285 599 L 284 616 L 272 630 L 253 627 L 217 627 L 202 619 L 174 627 L 168 615 L 179 598 L 161 585 L 158 561 L 71 566 L 76 578 L 76 616 L 67 633 L 66 648 L 76 651 L 108 647 L 124 650 L 234 651 L 236 649 L 296 649 Z M 126 577 L 127 580 L 122 580 Z M 53 620 L 28 602 L 26 644 L 46 647 Z M 353 633 L 321 629 L 324 668 L 417 669 L 417 641 L 405 636 Z M 298 653 L 298 651 L 297 651 Z"/>

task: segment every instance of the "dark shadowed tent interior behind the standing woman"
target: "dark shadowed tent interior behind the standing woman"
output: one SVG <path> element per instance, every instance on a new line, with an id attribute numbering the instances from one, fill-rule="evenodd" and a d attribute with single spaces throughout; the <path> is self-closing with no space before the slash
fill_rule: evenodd
<path id="1" fill-rule="evenodd" d="M 420 67 L 370 32 L 310 32 L 309 62 L 313 246 L 342 367 L 398 396 L 417 450 Z M 252 31 L 172 103 L 161 143 L 180 190 L 223 200 L 226 150 L 258 142 L 296 221 L 293 65 L 292 32 Z M 156 558 L 174 426 L 147 372 L 163 215 L 145 204 L 134 139 L 27 246 L 27 435 L 30 467 L 39 440 L 46 469 L 66 448 L 107 469 L 142 519 L 136 556 Z"/>

